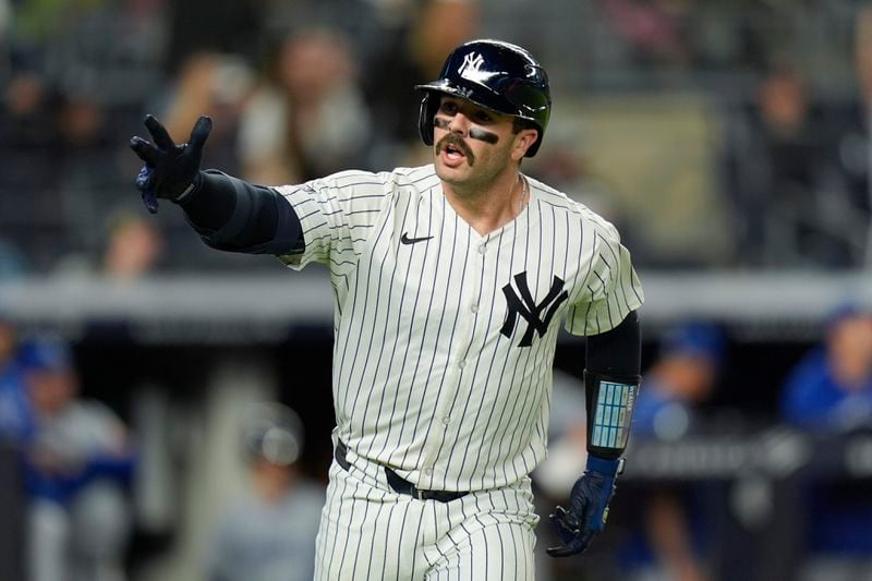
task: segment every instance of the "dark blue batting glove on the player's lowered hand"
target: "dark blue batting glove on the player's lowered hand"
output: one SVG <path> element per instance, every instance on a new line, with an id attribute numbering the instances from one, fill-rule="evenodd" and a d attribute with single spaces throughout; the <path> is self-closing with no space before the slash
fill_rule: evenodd
<path id="1" fill-rule="evenodd" d="M 620 459 L 588 456 L 588 468 L 569 493 L 569 509 L 558 506 L 549 516 L 562 545 L 547 548 L 548 555 L 579 555 L 603 531 L 621 464 Z"/>

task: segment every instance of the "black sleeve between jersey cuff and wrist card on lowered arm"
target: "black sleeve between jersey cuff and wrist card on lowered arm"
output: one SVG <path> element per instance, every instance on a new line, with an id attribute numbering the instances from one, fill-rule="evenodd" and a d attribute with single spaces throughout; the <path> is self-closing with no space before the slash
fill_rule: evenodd
<path id="1" fill-rule="evenodd" d="M 588 337 L 586 368 L 606 375 L 639 375 L 642 334 L 639 315 L 631 311 L 614 329 Z"/>

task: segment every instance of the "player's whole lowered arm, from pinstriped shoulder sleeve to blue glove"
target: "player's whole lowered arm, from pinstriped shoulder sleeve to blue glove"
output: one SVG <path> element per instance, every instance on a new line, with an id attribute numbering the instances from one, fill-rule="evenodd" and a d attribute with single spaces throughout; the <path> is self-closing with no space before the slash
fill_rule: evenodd
<path id="1" fill-rule="evenodd" d="M 588 465 L 569 494 L 568 508 L 550 516 L 562 544 L 554 557 L 583 553 L 600 534 L 622 467 L 622 455 L 641 383 L 641 330 L 637 310 L 642 289 L 620 244 L 618 231 L 590 214 L 595 243 L 578 307 L 567 320 L 570 332 L 588 336 L 584 389 L 588 414 Z"/>

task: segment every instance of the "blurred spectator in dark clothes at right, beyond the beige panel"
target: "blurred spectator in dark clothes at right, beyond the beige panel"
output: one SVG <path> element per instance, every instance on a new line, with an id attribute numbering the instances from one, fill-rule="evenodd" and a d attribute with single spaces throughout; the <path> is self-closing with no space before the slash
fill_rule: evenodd
<path id="1" fill-rule="evenodd" d="M 834 161 L 824 119 L 797 69 L 776 63 L 747 110 L 727 120 L 726 186 L 740 264 L 832 268 L 862 258 L 867 220 Z"/>

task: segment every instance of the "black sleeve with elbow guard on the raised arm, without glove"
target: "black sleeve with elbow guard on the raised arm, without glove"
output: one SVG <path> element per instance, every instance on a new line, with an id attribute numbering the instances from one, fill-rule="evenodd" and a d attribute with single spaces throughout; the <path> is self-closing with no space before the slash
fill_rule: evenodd
<path id="1" fill-rule="evenodd" d="M 196 190 L 179 205 L 214 249 L 279 255 L 304 247 L 300 218 L 284 196 L 270 187 L 206 170 L 199 173 Z"/>

